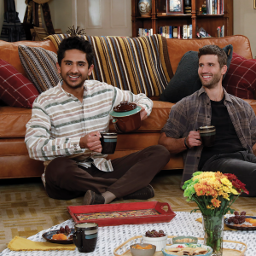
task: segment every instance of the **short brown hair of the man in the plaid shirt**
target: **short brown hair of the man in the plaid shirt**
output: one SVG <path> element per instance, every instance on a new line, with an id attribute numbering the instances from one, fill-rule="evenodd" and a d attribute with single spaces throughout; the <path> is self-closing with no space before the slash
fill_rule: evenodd
<path id="1" fill-rule="evenodd" d="M 198 59 L 201 55 L 217 55 L 219 67 L 224 67 L 227 65 L 228 57 L 224 51 L 224 49 L 219 48 L 218 45 L 205 45 L 201 49 L 198 50 Z"/>

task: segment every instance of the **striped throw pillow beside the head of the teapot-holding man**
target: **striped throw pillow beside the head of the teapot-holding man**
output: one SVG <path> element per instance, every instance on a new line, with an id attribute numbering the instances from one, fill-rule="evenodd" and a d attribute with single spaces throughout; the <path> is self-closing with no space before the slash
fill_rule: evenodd
<path id="1" fill-rule="evenodd" d="M 55 87 L 61 79 L 57 72 L 57 55 L 41 47 L 19 45 L 20 62 L 28 78 L 41 93 Z"/>

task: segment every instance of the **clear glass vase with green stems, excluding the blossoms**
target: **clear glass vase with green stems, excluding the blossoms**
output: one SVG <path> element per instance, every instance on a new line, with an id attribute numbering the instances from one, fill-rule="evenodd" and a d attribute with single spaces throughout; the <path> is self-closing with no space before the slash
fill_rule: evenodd
<path id="1" fill-rule="evenodd" d="M 212 256 L 222 256 L 223 235 L 224 235 L 224 215 L 202 216 L 205 245 L 212 247 Z"/>

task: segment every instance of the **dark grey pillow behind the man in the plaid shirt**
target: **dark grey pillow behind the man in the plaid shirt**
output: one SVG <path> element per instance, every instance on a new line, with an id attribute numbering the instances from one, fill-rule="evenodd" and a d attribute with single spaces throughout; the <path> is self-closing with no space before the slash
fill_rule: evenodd
<path id="1" fill-rule="evenodd" d="M 228 56 L 227 67 L 229 70 L 233 53 L 232 45 L 225 46 L 224 51 Z M 188 51 L 183 55 L 175 75 L 160 95 L 160 101 L 178 102 L 184 97 L 193 94 L 196 90 L 200 90 L 200 88 L 201 80 L 198 75 L 198 52 Z"/>

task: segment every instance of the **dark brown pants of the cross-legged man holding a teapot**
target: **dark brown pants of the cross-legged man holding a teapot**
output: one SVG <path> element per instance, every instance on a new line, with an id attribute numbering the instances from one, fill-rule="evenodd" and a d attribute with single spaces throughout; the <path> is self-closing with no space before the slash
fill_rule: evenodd
<path id="1" fill-rule="evenodd" d="M 55 199 L 73 199 L 87 190 L 102 194 L 110 191 L 117 198 L 142 189 L 170 160 L 169 151 L 155 145 L 112 160 L 113 172 L 95 166 L 78 166 L 74 160 L 59 157 L 45 171 L 46 192 Z"/>

